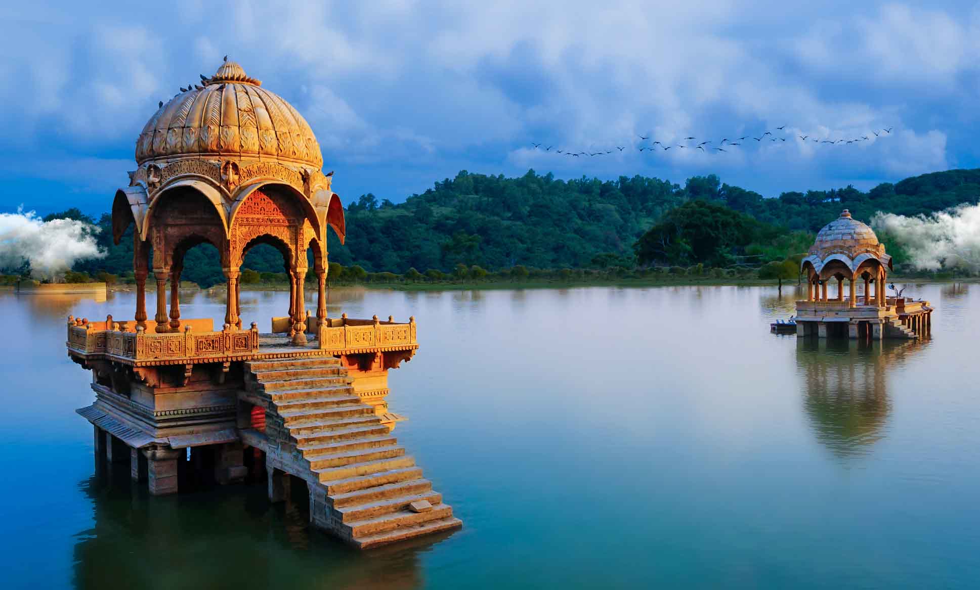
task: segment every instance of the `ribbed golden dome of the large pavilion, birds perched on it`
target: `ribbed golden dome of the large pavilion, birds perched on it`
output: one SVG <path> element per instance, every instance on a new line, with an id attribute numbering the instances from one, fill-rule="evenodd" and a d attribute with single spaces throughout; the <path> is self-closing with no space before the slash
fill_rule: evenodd
<path id="1" fill-rule="evenodd" d="M 160 107 L 136 140 L 136 163 L 186 158 L 280 161 L 319 170 L 313 129 L 241 66 L 224 62 Z"/>

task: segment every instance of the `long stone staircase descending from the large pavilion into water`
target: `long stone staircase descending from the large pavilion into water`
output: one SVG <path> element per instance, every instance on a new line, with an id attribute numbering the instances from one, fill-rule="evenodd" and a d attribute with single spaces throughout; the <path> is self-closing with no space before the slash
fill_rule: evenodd
<path id="1" fill-rule="evenodd" d="M 315 524 L 362 549 L 463 525 L 339 360 L 245 365 L 249 401 L 266 405 L 267 464 L 307 481 Z"/>

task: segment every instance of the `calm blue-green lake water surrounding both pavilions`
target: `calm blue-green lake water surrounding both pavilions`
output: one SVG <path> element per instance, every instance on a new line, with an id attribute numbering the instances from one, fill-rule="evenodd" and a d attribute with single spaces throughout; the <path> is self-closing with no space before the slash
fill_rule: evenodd
<path id="1" fill-rule="evenodd" d="M 769 334 L 787 289 L 335 292 L 331 316 L 416 316 L 395 433 L 465 522 L 367 555 L 262 484 L 151 498 L 94 474 L 64 320 L 128 318 L 132 296 L 2 293 L 0 585 L 976 587 L 980 285 L 908 291 L 933 338 L 864 346 Z M 287 299 L 243 293 L 242 317 Z M 204 293 L 181 308 L 223 317 Z"/>

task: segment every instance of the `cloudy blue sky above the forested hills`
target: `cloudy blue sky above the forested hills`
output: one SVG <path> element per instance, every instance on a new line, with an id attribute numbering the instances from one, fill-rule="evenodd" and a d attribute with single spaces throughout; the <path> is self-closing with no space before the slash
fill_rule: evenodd
<path id="1" fill-rule="evenodd" d="M 157 102 L 225 54 L 307 118 L 345 202 L 460 170 L 716 172 L 775 196 L 977 166 L 977 3 L 16 4 L 0 8 L 0 212 L 108 211 Z M 783 124 L 780 145 L 636 149 L 638 133 L 716 145 Z"/>

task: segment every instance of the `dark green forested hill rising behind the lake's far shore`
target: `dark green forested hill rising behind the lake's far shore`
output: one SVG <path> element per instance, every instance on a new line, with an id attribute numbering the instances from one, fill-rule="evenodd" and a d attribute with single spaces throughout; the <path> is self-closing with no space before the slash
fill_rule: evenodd
<path id="1" fill-rule="evenodd" d="M 598 256 L 631 257 L 636 238 L 662 213 L 690 199 L 717 200 L 759 221 L 816 231 L 850 209 L 868 221 L 877 211 L 917 215 L 980 200 L 980 169 L 933 172 L 883 183 L 787 192 L 778 198 L 695 176 L 684 186 L 658 178 L 559 180 L 528 171 L 517 178 L 460 172 L 405 203 L 362 196 L 347 208 L 347 244 L 331 242 L 330 260 L 367 270 L 489 270 L 524 265 L 581 268 Z M 606 256 L 603 256 L 606 255 Z"/>

